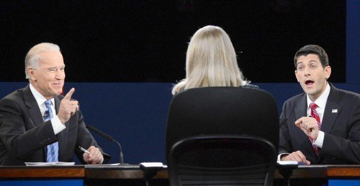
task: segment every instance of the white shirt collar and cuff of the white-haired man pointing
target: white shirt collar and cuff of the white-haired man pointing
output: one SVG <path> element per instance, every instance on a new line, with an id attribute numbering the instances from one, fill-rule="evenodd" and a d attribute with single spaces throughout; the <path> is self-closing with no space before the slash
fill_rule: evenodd
<path id="1" fill-rule="evenodd" d="M 45 101 L 46 98 L 40 94 L 40 92 L 38 92 L 35 87 L 33 87 L 30 83 L 29 85 L 30 87 L 30 91 L 32 93 L 32 95 L 35 97 L 35 100 L 37 102 L 37 105 L 39 106 L 40 112 L 41 112 L 41 116 L 44 118 L 44 114 L 45 114 L 45 110 L 46 110 L 46 106 L 45 106 Z M 51 125 L 53 126 L 53 130 L 55 135 L 57 135 L 59 132 L 61 132 L 62 130 L 64 130 L 66 127 L 64 124 L 61 123 L 58 115 L 56 115 L 56 110 L 55 110 L 55 99 L 50 99 L 51 100 L 51 111 L 53 112 L 53 118 L 51 118 Z"/>

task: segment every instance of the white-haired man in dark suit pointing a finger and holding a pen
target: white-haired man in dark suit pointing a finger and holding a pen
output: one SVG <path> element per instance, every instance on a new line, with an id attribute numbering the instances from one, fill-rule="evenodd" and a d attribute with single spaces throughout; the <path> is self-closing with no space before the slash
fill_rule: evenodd
<path id="1" fill-rule="evenodd" d="M 72 88 L 60 95 L 65 64 L 58 45 L 41 43 L 25 58 L 29 85 L 0 100 L 0 165 L 24 162 L 106 163 L 104 154 L 85 128 Z M 79 146 L 89 153 L 79 151 Z"/>

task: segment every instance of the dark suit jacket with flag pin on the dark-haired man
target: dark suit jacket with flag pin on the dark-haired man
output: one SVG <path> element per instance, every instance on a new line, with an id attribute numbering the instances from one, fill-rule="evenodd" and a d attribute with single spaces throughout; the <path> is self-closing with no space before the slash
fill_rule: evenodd
<path id="1" fill-rule="evenodd" d="M 311 164 L 360 164 L 360 95 L 340 90 L 331 83 L 321 131 L 325 133 L 319 156 L 295 121 L 306 116 L 306 94 L 296 95 L 283 105 L 280 115 L 279 154 L 300 150 Z M 337 112 L 332 111 L 337 109 Z"/>

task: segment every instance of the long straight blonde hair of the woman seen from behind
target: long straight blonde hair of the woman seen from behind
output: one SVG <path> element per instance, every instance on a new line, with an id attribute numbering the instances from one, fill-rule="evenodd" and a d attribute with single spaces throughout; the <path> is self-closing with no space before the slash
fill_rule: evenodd
<path id="1" fill-rule="evenodd" d="M 235 49 L 228 34 L 217 26 L 206 26 L 195 32 L 186 52 L 186 77 L 171 93 L 185 89 L 215 86 L 244 86 Z"/>

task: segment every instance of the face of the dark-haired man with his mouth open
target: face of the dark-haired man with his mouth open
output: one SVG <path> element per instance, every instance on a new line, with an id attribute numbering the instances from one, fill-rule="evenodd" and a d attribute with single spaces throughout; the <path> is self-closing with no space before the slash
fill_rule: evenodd
<path id="1" fill-rule="evenodd" d="M 301 55 L 297 58 L 296 79 L 312 101 L 318 99 L 324 92 L 330 74 L 330 66 L 323 68 L 316 54 Z"/>

